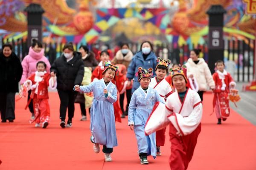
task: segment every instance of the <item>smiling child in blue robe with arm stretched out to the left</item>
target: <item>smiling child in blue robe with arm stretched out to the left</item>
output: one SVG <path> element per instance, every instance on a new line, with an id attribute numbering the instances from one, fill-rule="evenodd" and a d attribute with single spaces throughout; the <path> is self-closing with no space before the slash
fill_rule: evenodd
<path id="1" fill-rule="evenodd" d="M 75 85 L 74 90 L 84 93 L 93 92 L 94 99 L 90 110 L 90 130 L 93 150 L 99 153 L 99 145 L 103 145 L 105 161 L 112 161 L 110 154 L 117 146 L 116 126 L 113 103 L 116 102 L 116 85 L 111 80 L 115 77 L 117 66 L 105 62 L 103 78 L 86 86 Z"/>

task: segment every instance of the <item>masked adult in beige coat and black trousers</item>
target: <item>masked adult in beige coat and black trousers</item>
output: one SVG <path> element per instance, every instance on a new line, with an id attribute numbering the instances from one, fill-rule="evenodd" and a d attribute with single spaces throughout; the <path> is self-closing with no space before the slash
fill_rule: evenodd
<path id="1" fill-rule="evenodd" d="M 128 68 L 128 66 L 131 62 L 132 57 L 133 57 L 133 53 L 129 49 L 128 43 L 123 43 L 120 46 L 120 48 L 121 49 L 116 52 L 116 56 L 112 60 L 112 64 L 114 64 L 114 65 L 116 65 L 116 64 L 125 65 L 125 74 L 126 74 L 127 68 Z M 129 108 L 129 104 L 130 104 L 130 100 L 131 100 L 131 85 L 126 88 L 125 92 L 126 93 L 120 94 L 120 99 L 119 99 L 120 107 L 121 107 L 121 110 L 122 110 L 121 118 L 125 118 L 125 116 L 128 115 L 128 108 Z M 126 109 L 124 111 L 125 94 L 126 94 L 126 99 L 127 99 L 127 105 L 126 105 L 126 107 L 125 107 Z"/>

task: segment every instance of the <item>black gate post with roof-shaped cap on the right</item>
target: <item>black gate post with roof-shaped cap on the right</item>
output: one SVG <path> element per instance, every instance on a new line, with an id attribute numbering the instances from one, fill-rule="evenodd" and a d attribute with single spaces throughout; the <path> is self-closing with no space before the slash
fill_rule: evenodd
<path id="1" fill-rule="evenodd" d="M 212 72 L 215 72 L 215 62 L 219 59 L 224 60 L 223 44 L 223 25 L 224 13 L 226 10 L 221 5 L 212 5 L 207 14 L 209 15 L 209 47 L 208 47 L 208 65 Z"/>

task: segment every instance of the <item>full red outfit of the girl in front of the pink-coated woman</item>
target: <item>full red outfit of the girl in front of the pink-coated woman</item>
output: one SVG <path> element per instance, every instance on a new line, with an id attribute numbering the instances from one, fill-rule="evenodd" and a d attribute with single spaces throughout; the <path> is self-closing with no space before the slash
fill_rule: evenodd
<path id="1" fill-rule="evenodd" d="M 48 103 L 48 86 L 50 74 L 46 73 L 41 77 L 41 82 L 35 82 L 35 74 L 32 74 L 28 79 L 32 81 L 32 85 L 38 84 L 37 94 L 35 93 L 36 89 L 32 90 L 30 95 L 31 99 L 33 99 L 33 107 L 35 111 L 35 119 L 31 120 L 30 123 L 43 123 L 50 121 L 50 107 Z"/>

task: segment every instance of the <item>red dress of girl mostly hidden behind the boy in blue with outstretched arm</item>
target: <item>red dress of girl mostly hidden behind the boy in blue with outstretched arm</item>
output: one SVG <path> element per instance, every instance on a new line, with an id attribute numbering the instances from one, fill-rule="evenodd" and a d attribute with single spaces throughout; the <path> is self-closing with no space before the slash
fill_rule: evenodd
<path id="1" fill-rule="evenodd" d="M 93 70 L 93 73 L 92 73 L 92 81 L 94 79 L 102 79 L 103 78 L 103 73 L 104 69 L 103 69 L 103 66 L 97 66 L 94 70 Z M 116 73 L 117 75 L 117 73 Z M 116 76 L 114 77 L 114 79 L 112 80 L 112 82 L 116 85 Z M 116 85 L 116 89 L 118 89 L 117 85 Z M 103 93 L 103 92 L 102 92 Z M 117 94 L 118 94 L 118 90 L 117 90 Z M 122 122 L 121 121 L 121 115 L 122 115 L 122 110 L 120 108 L 120 105 L 119 105 L 119 99 L 117 97 L 117 100 L 116 102 L 113 103 L 113 107 L 114 107 L 114 114 L 115 114 L 115 120 L 116 122 Z"/>

